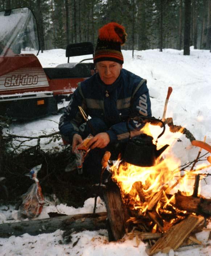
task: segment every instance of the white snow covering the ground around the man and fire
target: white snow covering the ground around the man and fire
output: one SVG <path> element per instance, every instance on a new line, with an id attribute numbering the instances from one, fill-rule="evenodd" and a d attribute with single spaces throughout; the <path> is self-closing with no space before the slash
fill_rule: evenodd
<path id="1" fill-rule="evenodd" d="M 133 73 L 147 79 L 147 85 L 151 96 L 152 113 L 154 117 L 162 117 L 167 89 L 173 87 L 173 92 L 169 99 L 166 117 L 173 117 L 174 124 L 186 127 L 196 138 L 204 140 L 211 145 L 211 53 L 208 50 L 194 50 L 191 47 L 190 56 L 183 56 L 183 51 L 165 49 L 160 52 L 156 49 L 135 51 L 132 58 L 132 51 L 124 51 L 123 67 Z M 90 57 L 90 56 L 87 56 Z M 55 49 L 44 51 L 38 55 L 43 67 L 55 67 L 58 64 L 67 62 L 65 50 Z M 83 59 L 86 56 L 82 57 Z M 73 57 L 70 61 L 77 62 L 81 57 Z M 63 105 L 59 106 L 62 107 Z M 34 120 L 22 124 L 12 124 L 9 132 L 16 135 L 34 136 L 42 131 L 51 133 L 58 131 L 58 121 L 60 115 L 50 115 L 42 120 Z M 166 129 L 165 138 L 172 134 Z M 180 138 L 181 141 L 177 141 Z M 46 148 L 45 141 L 41 141 L 42 147 Z M 52 142 L 53 143 L 53 142 Z M 59 142 L 47 145 L 55 146 Z M 158 140 L 159 143 L 159 140 Z M 194 160 L 198 154 L 198 148 L 190 145 L 190 141 L 180 133 L 173 134 L 171 152 L 179 158 L 181 164 Z M 169 151 L 168 151 L 169 153 Z M 202 153 L 206 153 L 204 150 Z M 167 154 L 167 153 L 166 153 Z M 203 172 L 211 173 L 211 169 L 204 169 Z M 211 177 L 201 181 L 200 193 L 207 198 L 211 197 Z M 84 202 L 84 207 L 75 209 L 65 205 L 44 206 L 38 218 L 47 218 L 47 212 L 57 211 L 66 214 L 92 212 L 94 199 L 90 198 Z M 0 207 L 0 223 L 9 222 L 17 218 L 17 212 L 12 206 L 5 211 L 8 206 Z M 105 211 L 104 203 L 98 199 L 98 211 Z M 10 219 L 10 220 L 9 220 Z M 211 226 L 211 225 L 210 225 Z M 203 244 L 207 243 L 209 232 L 203 231 L 197 235 Z M 107 231 L 83 231 L 72 235 L 72 242 L 61 244 L 62 231 L 58 230 L 53 234 L 42 234 L 30 236 L 24 234 L 21 237 L 11 236 L 10 238 L 0 238 L 0 255 L 147 255 L 146 244 L 137 241 L 126 240 L 123 242 L 108 243 Z M 80 238 L 78 240 L 78 238 Z M 73 247 L 74 242 L 78 243 Z M 211 243 L 211 240 L 209 241 Z M 167 256 L 166 253 L 157 253 L 157 256 Z M 189 248 L 185 251 L 169 252 L 169 255 L 211 255 L 211 246 Z"/>

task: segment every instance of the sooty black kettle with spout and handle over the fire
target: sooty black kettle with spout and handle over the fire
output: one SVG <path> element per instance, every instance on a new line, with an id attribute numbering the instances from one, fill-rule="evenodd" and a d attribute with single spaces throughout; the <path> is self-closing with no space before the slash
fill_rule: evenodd
<path id="1" fill-rule="evenodd" d="M 130 119 L 131 120 L 131 119 Z M 137 119 L 135 119 L 137 121 Z M 155 119 L 154 117 L 145 118 L 141 117 L 142 123 L 150 122 L 154 124 L 162 123 L 164 129 L 161 134 L 158 136 L 161 137 L 165 132 L 165 124 L 160 119 Z M 140 119 L 139 119 L 140 122 Z M 128 121 L 129 124 L 129 121 Z M 129 129 L 129 125 L 128 125 Z M 129 130 L 130 133 L 130 130 Z M 157 138 L 157 139 L 158 139 Z M 157 142 L 157 140 L 156 140 Z M 156 163 L 156 159 L 164 152 L 164 150 L 169 145 L 165 145 L 159 150 L 157 150 L 157 146 L 153 144 L 153 137 L 142 133 L 141 135 L 135 136 L 128 139 L 128 143 L 124 152 L 123 160 L 128 162 L 129 164 L 149 167 L 153 166 Z"/>

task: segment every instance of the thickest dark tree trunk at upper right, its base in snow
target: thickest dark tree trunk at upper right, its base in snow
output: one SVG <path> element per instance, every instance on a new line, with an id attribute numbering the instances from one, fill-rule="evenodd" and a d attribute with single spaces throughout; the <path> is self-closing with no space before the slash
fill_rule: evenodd
<path id="1" fill-rule="evenodd" d="M 190 55 L 190 19 L 191 19 L 191 0 L 185 0 L 185 28 L 184 28 L 183 55 Z"/>

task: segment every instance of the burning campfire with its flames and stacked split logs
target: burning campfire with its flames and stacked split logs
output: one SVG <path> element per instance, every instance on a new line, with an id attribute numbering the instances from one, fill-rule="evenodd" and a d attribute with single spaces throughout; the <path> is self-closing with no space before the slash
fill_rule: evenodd
<path id="1" fill-rule="evenodd" d="M 143 132 L 152 135 L 158 130 L 148 124 Z M 167 135 L 158 140 L 158 150 L 166 143 L 171 145 L 174 137 L 172 133 L 172 137 Z M 153 142 L 156 143 L 155 139 Z M 122 205 L 116 203 L 118 189 L 113 185 L 107 187 L 105 202 L 116 240 L 124 232 L 140 240 L 148 239 L 149 255 L 168 252 L 182 245 L 201 244 L 195 233 L 202 230 L 206 217 L 211 214 L 211 199 L 200 196 L 202 175 L 198 173 L 204 166 L 182 172 L 179 166 L 179 160 L 171 154 L 171 146 L 153 166 L 136 166 L 124 160 L 118 160 L 112 166 L 112 181 L 118 185 Z M 114 210 L 109 209 L 111 207 Z"/>

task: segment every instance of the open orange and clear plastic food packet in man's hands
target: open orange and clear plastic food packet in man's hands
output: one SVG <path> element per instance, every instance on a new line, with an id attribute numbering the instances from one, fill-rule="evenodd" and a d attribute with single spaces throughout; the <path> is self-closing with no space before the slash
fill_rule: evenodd
<path id="1" fill-rule="evenodd" d="M 65 168 L 66 172 L 70 172 L 72 170 L 78 169 L 78 174 L 83 173 L 83 161 L 86 157 L 87 153 L 90 151 L 90 148 L 87 148 L 88 142 L 93 138 L 91 134 L 89 134 L 86 139 L 82 141 L 79 145 L 75 147 L 74 150 L 74 159 L 71 160 L 70 164 Z"/>

